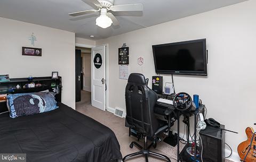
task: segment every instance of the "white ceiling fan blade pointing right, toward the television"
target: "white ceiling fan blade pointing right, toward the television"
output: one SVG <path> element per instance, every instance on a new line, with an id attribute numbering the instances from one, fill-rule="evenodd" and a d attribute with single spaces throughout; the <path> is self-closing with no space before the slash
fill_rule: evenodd
<path id="1" fill-rule="evenodd" d="M 114 5 L 110 6 L 111 11 L 143 11 L 142 4 L 124 4 L 124 5 Z"/>

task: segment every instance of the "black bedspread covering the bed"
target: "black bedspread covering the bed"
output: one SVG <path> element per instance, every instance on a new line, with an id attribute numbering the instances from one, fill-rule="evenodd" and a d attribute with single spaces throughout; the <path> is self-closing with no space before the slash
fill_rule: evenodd
<path id="1" fill-rule="evenodd" d="M 33 162 L 122 159 L 113 131 L 64 104 L 36 115 L 0 115 L 0 153 L 26 153 Z"/>

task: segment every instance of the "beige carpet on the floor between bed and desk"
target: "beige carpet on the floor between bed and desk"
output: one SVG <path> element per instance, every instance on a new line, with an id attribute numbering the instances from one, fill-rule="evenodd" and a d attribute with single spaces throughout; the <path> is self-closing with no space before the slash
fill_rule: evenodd
<path id="1" fill-rule="evenodd" d="M 139 151 L 135 146 L 130 149 L 129 145 L 132 141 L 137 141 L 134 137 L 129 137 L 129 129 L 124 126 L 125 119 L 115 116 L 110 112 L 103 112 L 102 110 L 95 108 L 91 105 L 91 93 L 82 91 L 82 100 L 79 103 L 76 103 L 76 110 L 81 112 L 87 116 L 90 116 L 94 120 L 108 126 L 111 130 L 113 130 L 116 134 L 117 140 L 121 146 L 122 155 L 125 156 L 127 154 L 131 154 L 133 152 Z M 140 143 L 142 144 L 142 143 Z M 182 149 L 181 144 L 181 149 Z M 177 158 L 177 147 L 172 147 L 165 142 L 157 143 L 156 149 L 151 149 L 151 151 L 158 152 L 164 154 L 171 158 L 171 161 L 176 161 L 174 159 Z M 172 159 L 174 158 L 174 159 Z M 144 162 L 145 158 L 138 157 L 133 158 L 131 160 L 127 160 L 129 162 Z M 163 161 L 161 159 L 156 159 L 154 157 L 149 157 L 149 161 L 151 162 L 160 162 Z M 230 162 L 230 160 L 226 160 Z"/>

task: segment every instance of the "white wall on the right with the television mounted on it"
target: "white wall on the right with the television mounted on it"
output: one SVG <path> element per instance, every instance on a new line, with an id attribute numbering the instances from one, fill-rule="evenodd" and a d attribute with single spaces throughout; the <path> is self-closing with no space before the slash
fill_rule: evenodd
<path id="1" fill-rule="evenodd" d="M 156 75 L 152 45 L 206 38 L 208 76 L 174 75 L 175 89 L 199 94 L 207 106 L 207 117 L 239 132 L 226 133 L 226 142 L 236 151 L 246 139 L 245 128 L 256 123 L 255 6 L 256 1 L 251 0 L 98 40 L 97 45 L 109 44 L 109 106 L 125 109 L 127 80 L 118 78 L 118 48 L 124 42 L 130 47 L 130 72 L 151 78 Z M 137 64 L 139 56 L 145 58 L 141 67 Z M 164 82 L 171 82 L 171 75 L 163 76 Z"/>

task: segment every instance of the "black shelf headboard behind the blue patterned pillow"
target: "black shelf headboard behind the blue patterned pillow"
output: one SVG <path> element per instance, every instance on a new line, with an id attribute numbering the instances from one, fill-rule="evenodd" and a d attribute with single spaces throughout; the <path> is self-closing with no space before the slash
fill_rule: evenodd
<path id="1" fill-rule="evenodd" d="M 35 83 L 37 87 L 28 88 L 26 84 Z M 20 88 L 17 89 L 19 84 Z M 39 85 L 38 85 L 39 84 Z M 41 85 L 41 86 L 40 86 Z M 28 78 L 13 78 L 9 82 L 0 83 L 0 94 L 14 94 L 14 93 L 31 93 L 31 92 L 40 92 L 44 90 L 53 91 L 54 88 L 59 87 L 59 93 L 55 95 L 57 102 L 61 102 L 61 76 L 58 79 L 52 79 L 51 76 L 46 77 L 36 77 L 33 80 L 28 81 Z M 7 105 L 6 101 L 0 101 L 0 113 L 6 112 Z"/>

